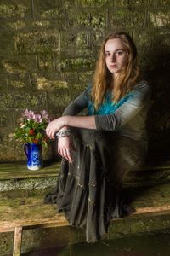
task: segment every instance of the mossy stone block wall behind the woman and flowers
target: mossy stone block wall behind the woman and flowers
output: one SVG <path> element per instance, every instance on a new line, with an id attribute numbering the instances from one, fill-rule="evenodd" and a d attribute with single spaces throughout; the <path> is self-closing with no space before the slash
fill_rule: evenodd
<path id="1" fill-rule="evenodd" d="M 129 32 L 152 86 L 150 152 L 169 152 L 169 0 L 1 0 L 0 160 L 23 160 L 13 138 L 23 109 L 58 117 L 91 81 L 99 45 Z M 48 153 L 46 153 L 48 154 Z"/>

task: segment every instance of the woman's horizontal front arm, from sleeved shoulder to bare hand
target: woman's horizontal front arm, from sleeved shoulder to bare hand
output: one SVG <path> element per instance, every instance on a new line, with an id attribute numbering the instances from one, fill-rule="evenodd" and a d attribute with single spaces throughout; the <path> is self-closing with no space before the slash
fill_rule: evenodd
<path id="1" fill-rule="evenodd" d="M 48 137 L 54 138 L 55 133 L 65 125 L 97 129 L 105 131 L 114 131 L 122 125 L 125 125 L 130 119 L 139 113 L 149 102 L 150 90 L 147 84 L 141 85 L 138 90 L 134 91 L 133 96 L 124 102 L 115 113 L 94 116 L 63 116 L 52 121 L 47 127 Z"/>

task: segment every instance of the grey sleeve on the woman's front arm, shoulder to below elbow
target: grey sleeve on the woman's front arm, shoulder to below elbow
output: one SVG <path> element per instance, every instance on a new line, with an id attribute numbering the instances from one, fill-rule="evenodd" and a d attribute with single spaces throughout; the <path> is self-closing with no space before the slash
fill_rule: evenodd
<path id="1" fill-rule="evenodd" d="M 114 131 L 127 124 L 149 102 L 150 87 L 144 81 L 135 86 L 132 95 L 114 113 L 95 115 L 97 130 Z"/>

